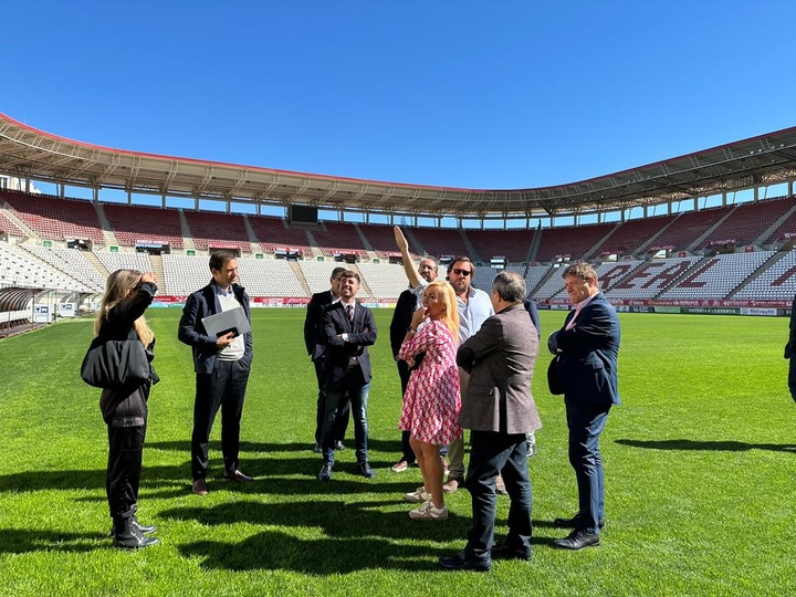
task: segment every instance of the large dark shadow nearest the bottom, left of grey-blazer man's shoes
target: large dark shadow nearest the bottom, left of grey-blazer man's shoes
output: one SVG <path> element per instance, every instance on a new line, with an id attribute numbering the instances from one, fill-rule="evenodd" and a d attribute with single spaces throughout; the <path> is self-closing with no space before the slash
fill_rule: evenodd
<path id="1" fill-rule="evenodd" d="M 436 570 L 437 557 L 450 552 L 370 537 L 300 540 L 275 531 L 240 543 L 200 541 L 179 549 L 186 557 L 203 558 L 202 566 L 208 569 L 282 569 L 315 576 L 374 568 Z M 433 559 L 428 559 L 430 556 Z"/>

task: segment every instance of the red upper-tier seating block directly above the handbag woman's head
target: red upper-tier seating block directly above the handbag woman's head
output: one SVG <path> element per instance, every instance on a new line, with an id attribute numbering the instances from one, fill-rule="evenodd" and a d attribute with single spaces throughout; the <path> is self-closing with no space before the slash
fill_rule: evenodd
<path id="1" fill-rule="evenodd" d="M 182 249 L 182 226 L 178 210 L 118 203 L 103 203 L 103 208 L 122 245 L 155 242 Z"/>

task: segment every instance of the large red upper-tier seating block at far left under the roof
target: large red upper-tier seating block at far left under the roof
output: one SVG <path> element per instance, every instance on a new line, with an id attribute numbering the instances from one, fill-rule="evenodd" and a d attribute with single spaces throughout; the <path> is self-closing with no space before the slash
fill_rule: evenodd
<path id="1" fill-rule="evenodd" d="M 83 239 L 104 243 L 100 219 L 91 201 L 9 189 L 0 189 L 0 199 L 11 206 L 14 216 L 42 239 Z"/>

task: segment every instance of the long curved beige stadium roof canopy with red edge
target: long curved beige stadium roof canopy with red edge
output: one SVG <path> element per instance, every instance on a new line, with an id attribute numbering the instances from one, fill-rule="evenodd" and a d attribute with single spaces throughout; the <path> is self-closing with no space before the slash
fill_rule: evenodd
<path id="1" fill-rule="evenodd" d="M 534 189 L 461 189 L 112 149 L 36 130 L 0 114 L 0 171 L 62 185 L 191 199 L 434 217 L 532 218 L 660 205 L 794 180 L 796 127 L 579 182 Z"/>

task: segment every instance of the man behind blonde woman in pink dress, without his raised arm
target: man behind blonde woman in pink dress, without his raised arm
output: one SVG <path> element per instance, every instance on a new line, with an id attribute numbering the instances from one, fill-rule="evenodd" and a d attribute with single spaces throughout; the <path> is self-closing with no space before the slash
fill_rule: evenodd
<path id="1" fill-rule="evenodd" d="M 407 255 L 404 259 L 408 260 L 409 258 Z M 409 261 L 409 263 L 411 268 L 411 262 Z M 404 266 L 406 269 L 406 263 Z M 406 394 L 406 387 L 409 383 L 411 369 L 406 360 L 398 358 L 398 350 L 400 350 L 400 346 L 404 343 L 404 338 L 406 337 L 407 329 L 411 324 L 415 311 L 417 311 L 422 304 L 422 294 L 420 293 L 420 295 L 418 295 L 418 286 L 421 285 L 420 280 L 423 281 L 422 286 L 420 287 L 420 291 L 422 292 L 426 284 L 437 280 L 438 269 L 437 260 L 433 258 L 426 256 L 421 259 L 417 271 L 419 276 L 418 282 L 412 285 L 412 279 L 409 280 L 410 287 L 405 290 L 400 296 L 398 296 L 395 313 L 392 313 L 392 322 L 390 323 L 390 347 L 392 348 L 392 358 L 398 365 L 398 377 L 400 377 L 401 380 L 401 395 Z M 418 304 L 418 302 L 420 302 L 420 304 Z M 416 358 L 413 368 L 417 368 L 419 365 L 420 360 Z M 401 432 L 401 449 L 404 453 L 400 460 L 392 465 L 394 472 L 404 472 L 415 463 L 415 452 L 412 452 L 412 449 L 409 446 L 409 431 Z"/>

